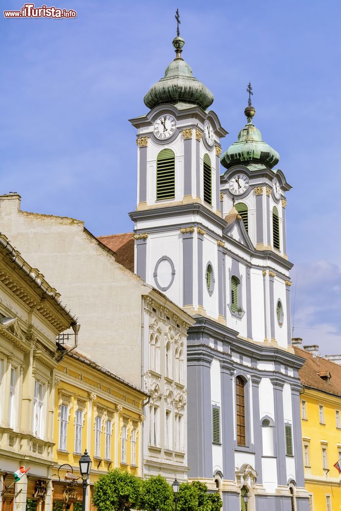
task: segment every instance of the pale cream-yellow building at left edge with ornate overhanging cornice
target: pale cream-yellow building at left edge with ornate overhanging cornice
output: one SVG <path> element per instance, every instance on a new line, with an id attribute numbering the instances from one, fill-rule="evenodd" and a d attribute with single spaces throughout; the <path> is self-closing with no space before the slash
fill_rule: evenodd
<path id="1" fill-rule="evenodd" d="M 77 318 L 0 234 L 0 504 L 51 507 L 56 337 Z M 27 475 L 14 482 L 20 466 Z"/>

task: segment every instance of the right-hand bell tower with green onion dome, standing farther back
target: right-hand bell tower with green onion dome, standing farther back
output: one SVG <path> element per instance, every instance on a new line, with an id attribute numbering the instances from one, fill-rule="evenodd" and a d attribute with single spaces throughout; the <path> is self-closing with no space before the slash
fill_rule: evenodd
<path id="1" fill-rule="evenodd" d="M 257 250 L 271 250 L 287 259 L 285 227 L 285 192 L 291 189 L 278 164 L 278 152 L 262 140 L 254 125 L 256 110 L 251 102 L 251 83 L 247 87 L 247 123 L 237 142 L 221 156 L 227 170 L 221 176 L 221 211 L 223 218 L 235 205 L 245 229 Z"/>

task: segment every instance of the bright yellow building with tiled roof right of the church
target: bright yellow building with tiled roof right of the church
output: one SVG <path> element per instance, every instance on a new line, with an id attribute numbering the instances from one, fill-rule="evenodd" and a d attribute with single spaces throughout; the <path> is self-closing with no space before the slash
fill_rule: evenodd
<path id="1" fill-rule="evenodd" d="M 318 355 L 319 346 L 298 347 L 303 458 L 310 511 L 341 509 L 341 477 L 333 466 L 341 458 L 341 366 Z M 341 462 L 340 462 L 341 464 Z"/>

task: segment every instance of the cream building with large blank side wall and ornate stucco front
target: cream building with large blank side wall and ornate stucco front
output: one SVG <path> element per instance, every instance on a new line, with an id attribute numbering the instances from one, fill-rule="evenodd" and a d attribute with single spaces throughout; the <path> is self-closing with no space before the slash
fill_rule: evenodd
<path id="1" fill-rule="evenodd" d="M 118 255 L 83 222 L 21 211 L 17 194 L 0 197 L 0 221 L 27 260 L 77 310 L 82 352 L 150 394 L 142 475 L 185 480 L 186 337 L 193 318 L 119 264 Z"/>

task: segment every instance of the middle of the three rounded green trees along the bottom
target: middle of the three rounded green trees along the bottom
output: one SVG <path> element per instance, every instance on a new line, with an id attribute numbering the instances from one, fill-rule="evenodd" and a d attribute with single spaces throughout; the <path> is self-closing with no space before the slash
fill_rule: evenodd
<path id="1" fill-rule="evenodd" d="M 170 511 L 173 502 L 173 490 L 164 477 L 149 477 L 141 484 L 140 509 L 146 511 Z"/>

